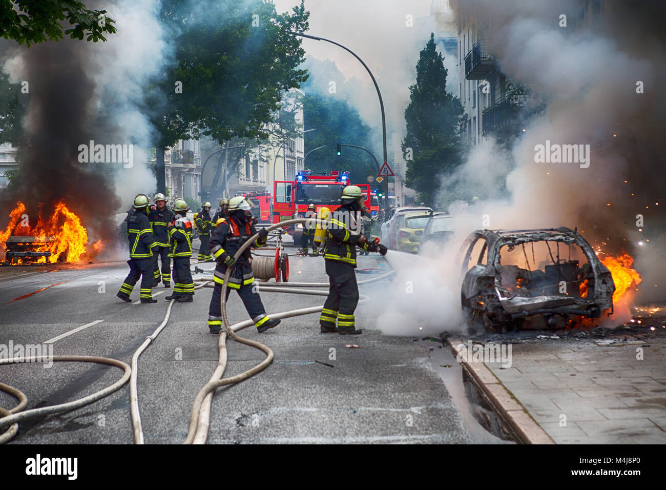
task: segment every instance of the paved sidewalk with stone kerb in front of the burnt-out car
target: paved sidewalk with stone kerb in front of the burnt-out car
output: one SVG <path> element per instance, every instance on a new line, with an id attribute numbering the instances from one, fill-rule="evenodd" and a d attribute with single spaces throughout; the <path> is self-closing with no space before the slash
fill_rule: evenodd
<path id="1" fill-rule="evenodd" d="M 597 339 L 541 337 L 486 341 L 511 343 L 510 367 L 467 363 L 476 373 L 485 371 L 484 391 L 496 393 L 499 381 L 509 392 L 498 399 L 500 411 L 517 415 L 519 404 L 529 413 L 531 419 L 513 417 L 511 425 L 529 427 L 535 421 L 557 444 L 666 443 L 666 328 L 661 323 L 655 331 L 615 331 Z M 448 340 L 454 353 L 467 342 Z"/>

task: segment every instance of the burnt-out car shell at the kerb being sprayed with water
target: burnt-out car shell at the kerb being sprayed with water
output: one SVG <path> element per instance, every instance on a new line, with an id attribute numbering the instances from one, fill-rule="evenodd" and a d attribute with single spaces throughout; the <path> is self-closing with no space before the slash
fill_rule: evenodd
<path id="1" fill-rule="evenodd" d="M 613 277 L 575 229 L 476 230 L 458 254 L 472 328 L 569 329 L 613 313 Z"/>

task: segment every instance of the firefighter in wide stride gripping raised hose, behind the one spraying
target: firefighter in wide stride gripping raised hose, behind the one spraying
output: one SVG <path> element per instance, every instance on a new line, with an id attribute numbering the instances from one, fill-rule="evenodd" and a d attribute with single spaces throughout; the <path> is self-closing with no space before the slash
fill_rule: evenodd
<path id="1" fill-rule="evenodd" d="M 222 297 L 224 275 L 227 267 L 234 264 L 236 267 L 234 267 L 229 277 L 224 301 L 226 302 L 229 299 L 229 293 L 232 289 L 235 289 L 259 332 L 265 332 L 280 323 L 278 319 L 268 318 L 259 294 L 253 290 L 254 275 L 250 263 L 250 257 L 252 257 L 250 247 L 245 249 L 244 253 L 238 258 L 238 263 L 234 259 L 234 255 L 240 246 L 256 233 L 256 229 L 250 224 L 253 218 L 250 209 L 252 209 L 252 203 L 248 199 L 243 196 L 232 197 L 229 201 L 228 217 L 219 221 L 210 237 L 210 251 L 217 261 L 213 276 L 215 287 L 212 291 L 208 309 L 208 329 L 214 335 L 222 330 L 220 298 Z M 259 230 L 258 239 L 252 245 L 263 247 L 266 245 L 267 239 L 268 231 L 262 228 Z"/>

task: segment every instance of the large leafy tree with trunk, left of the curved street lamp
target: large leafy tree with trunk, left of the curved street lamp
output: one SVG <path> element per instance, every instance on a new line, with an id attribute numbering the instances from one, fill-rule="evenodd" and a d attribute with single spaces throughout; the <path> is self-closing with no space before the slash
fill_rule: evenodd
<path id="1" fill-rule="evenodd" d="M 164 185 L 164 149 L 178 139 L 208 135 L 265 137 L 282 94 L 307 78 L 298 69 L 305 52 L 289 31 L 308 29 L 301 1 L 278 14 L 268 0 L 164 0 L 161 19 L 176 33 L 174 63 L 147 87 L 145 106 L 159 133 L 158 187 Z M 224 152 L 228 153 L 228 152 Z"/>

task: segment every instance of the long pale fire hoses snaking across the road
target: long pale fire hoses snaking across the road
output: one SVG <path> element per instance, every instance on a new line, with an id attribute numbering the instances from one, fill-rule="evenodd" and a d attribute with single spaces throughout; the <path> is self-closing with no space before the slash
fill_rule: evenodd
<path id="1" fill-rule="evenodd" d="M 305 223 L 306 221 L 310 221 L 312 223 L 312 218 L 310 219 L 292 219 L 289 221 L 283 221 L 282 223 L 276 223 L 274 225 L 271 225 L 266 228 L 267 231 L 272 231 L 272 229 L 276 229 L 278 227 L 283 227 L 285 225 L 292 225 L 296 223 Z M 318 219 L 314 220 L 316 223 L 320 223 L 322 225 L 325 225 L 323 221 L 320 221 Z M 254 243 L 254 240 L 258 238 L 258 233 L 253 235 L 246 243 L 244 243 L 236 252 L 234 255 L 234 258 L 238 259 L 240 255 L 252 244 Z M 220 337 L 218 339 L 218 365 L 210 378 L 210 381 L 200 389 L 198 394 L 196 395 L 196 398 L 194 399 L 194 403 L 192 405 L 192 412 L 190 414 L 190 427 L 188 429 L 188 435 L 186 437 L 186 444 L 191 444 L 191 443 L 205 443 L 206 438 L 208 436 L 208 422 L 210 419 L 210 405 L 212 403 L 212 395 L 214 393 L 214 390 L 218 387 L 224 386 L 224 385 L 231 385 L 234 383 L 239 383 L 240 381 L 244 381 L 245 379 L 248 379 L 249 377 L 253 376 L 254 374 L 262 371 L 270 363 L 272 363 L 272 359 L 274 357 L 273 351 L 267 347 L 266 345 L 257 342 L 257 341 L 252 341 L 250 339 L 246 339 L 244 337 L 240 337 L 239 335 L 236 335 L 235 331 L 240 330 L 242 328 L 248 327 L 250 325 L 253 325 L 254 323 L 251 320 L 246 320 L 242 321 L 240 323 L 236 323 L 234 325 L 230 325 L 228 318 L 226 316 L 226 289 L 227 289 L 227 284 L 228 284 L 228 279 L 230 277 L 230 273 L 234 269 L 234 267 L 228 267 L 226 270 L 226 275 L 224 276 L 224 282 L 222 283 L 222 295 L 220 297 L 220 305 L 222 309 L 222 321 L 224 323 L 225 331 L 220 333 Z M 386 274 L 380 275 L 378 277 L 374 277 L 372 279 L 366 279 L 364 281 L 359 281 L 359 285 L 366 284 L 366 283 L 371 283 L 374 281 L 379 281 L 380 279 L 384 279 L 391 275 L 393 271 L 390 271 Z M 212 282 L 210 281 L 212 277 L 202 277 L 200 281 L 196 281 L 197 285 L 195 289 L 200 289 L 201 287 L 214 287 Z M 259 291 L 270 291 L 270 292 L 280 292 L 280 293 L 294 293 L 294 294 L 304 294 L 304 295 L 320 295 L 320 296 L 326 296 L 328 295 L 328 291 L 312 291 L 308 289 L 295 289 L 295 287 L 328 287 L 328 283 L 276 283 L 271 286 L 263 286 L 263 285 L 258 285 L 258 290 Z M 368 301 L 368 297 L 365 295 L 360 295 L 361 299 L 359 303 L 364 303 L 365 301 Z M 162 323 L 157 327 L 157 329 L 153 332 L 152 335 L 147 337 L 145 342 L 135 351 L 134 355 L 132 356 L 132 361 L 131 361 L 131 367 L 127 365 L 126 363 L 123 363 L 123 361 L 118 361 L 117 359 L 109 359 L 106 357 L 94 357 L 94 356 L 76 356 L 76 355 L 62 355 L 62 356 L 53 356 L 53 361 L 75 361 L 75 362 L 91 362 L 91 363 L 102 363 L 102 364 L 107 364 L 107 365 L 114 365 L 116 367 L 119 367 L 124 370 L 123 377 L 119 379 L 119 381 L 116 381 L 113 383 L 113 385 L 106 387 L 105 389 L 101 389 L 100 391 L 97 391 L 93 393 L 92 395 L 88 395 L 87 397 L 83 397 L 81 399 L 77 399 L 75 401 L 71 401 L 68 403 L 61 403 L 59 405 L 53 405 L 49 407 L 40 407 L 37 409 L 31 409 L 27 411 L 21 411 L 25 405 L 27 405 L 27 398 L 25 397 L 25 394 L 23 394 L 21 391 L 18 389 L 15 389 L 13 387 L 10 387 L 8 385 L 4 385 L 3 383 L 0 383 L 0 390 L 5 391 L 6 393 L 9 393 L 10 395 L 14 396 L 19 400 L 19 404 L 16 405 L 13 409 L 11 410 L 6 410 L 0 407 L 0 429 L 3 427 L 7 427 L 9 425 L 9 429 L 5 431 L 5 433 L 0 434 L 0 443 L 5 443 L 12 439 L 14 435 L 18 431 L 18 423 L 19 421 L 29 419 L 32 417 L 43 417 L 45 415 L 51 415 L 53 413 L 60 413 L 60 412 L 65 412 L 65 411 L 71 411 L 73 409 L 77 409 L 80 407 L 83 407 L 85 405 L 88 405 L 90 403 L 93 403 L 99 399 L 102 399 L 103 397 L 106 397 L 107 395 L 110 395 L 111 393 L 114 393 L 127 381 L 130 381 L 130 403 L 131 403 L 131 417 L 132 417 L 132 423 L 133 423 L 133 431 L 134 431 L 134 436 L 135 436 L 135 443 L 137 444 L 143 444 L 144 443 L 144 437 L 143 437 L 143 429 L 141 426 L 141 415 L 139 412 L 139 395 L 138 395 L 138 386 L 137 386 L 137 375 L 138 375 L 138 361 L 139 361 L 139 356 L 145 349 L 157 338 L 159 333 L 166 327 L 166 324 L 168 323 L 168 319 L 170 317 L 171 313 L 171 308 L 174 303 L 174 300 L 169 302 L 168 308 L 166 310 L 165 318 L 163 319 Z M 309 308 L 302 308 L 302 309 L 296 309 L 292 311 L 284 311 L 282 313 L 276 313 L 270 315 L 272 318 L 275 319 L 282 319 L 282 318 L 289 318 L 289 317 L 296 317 L 300 315 L 308 315 L 310 313 L 319 313 L 322 311 L 323 306 L 318 306 L 318 307 L 309 307 Z M 249 369 L 248 371 L 244 371 L 243 373 L 240 373 L 238 375 L 228 377 L 228 378 L 222 378 L 222 375 L 224 375 L 224 371 L 226 369 L 226 338 L 227 335 L 232 337 L 234 340 L 238 341 L 239 343 L 244 343 L 246 345 L 250 345 L 252 347 L 256 347 L 257 349 L 260 349 L 261 351 L 264 351 L 266 353 L 266 359 L 264 359 L 261 363 L 253 367 L 252 369 Z M 12 363 L 23 363 L 23 362 L 33 362 L 37 361 L 37 357 L 21 357 L 21 358 L 12 358 L 12 359 L 0 359 L 0 365 L 3 364 L 12 364 Z"/>

